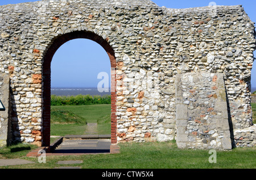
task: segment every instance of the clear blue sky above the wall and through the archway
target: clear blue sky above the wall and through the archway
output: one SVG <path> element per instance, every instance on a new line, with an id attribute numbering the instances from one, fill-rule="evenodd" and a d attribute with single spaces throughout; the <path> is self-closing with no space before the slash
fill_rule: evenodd
<path id="1" fill-rule="evenodd" d="M 35 0 L 1 0 L 0 5 L 33 2 Z M 136 0 L 134 0 L 136 1 Z M 152 0 L 158 6 L 183 9 L 189 7 L 208 6 L 210 2 L 216 5 L 242 5 L 253 22 L 256 22 L 256 1 L 253 0 Z M 256 53 L 254 53 L 256 56 Z M 52 60 L 53 87 L 97 87 L 101 79 L 100 72 L 110 74 L 109 57 L 104 49 L 91 40 L 76 39 L 63 44 L 55 53 Z M 256 87 L 256 64 L 251 73 L 252 87 Z"/>

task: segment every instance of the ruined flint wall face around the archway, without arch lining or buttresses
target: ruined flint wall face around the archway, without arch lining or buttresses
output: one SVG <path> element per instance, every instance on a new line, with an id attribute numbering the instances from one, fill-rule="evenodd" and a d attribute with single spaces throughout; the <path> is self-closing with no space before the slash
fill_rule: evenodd
<path id="1" fill-rule="evenodd" d="M 251 127 L 255 36 L 241 6 L 45 0 L 0 6 L 0 71 L 10 76 L 13 140 L 42 144 L 44 56 L 55 39 L 81 31 L 113 48 L 118 142 L 176 139 L 176 76 L 191 72 L 223 74 L 230 133 Z M 234 144 L 255 144 L 249 132 L 250 140 Z"/>

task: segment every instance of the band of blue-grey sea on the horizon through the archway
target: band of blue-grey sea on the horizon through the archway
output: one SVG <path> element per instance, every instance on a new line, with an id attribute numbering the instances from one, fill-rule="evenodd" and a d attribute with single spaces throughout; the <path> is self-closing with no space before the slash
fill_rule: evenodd
<path id="1" fill-rule="evenodd" d="M 57 96 L 75 96 L 75 95 L 110 95 L 108 92 L 99 92 L 97 87 L 51 87 L 51 94 Z"/>

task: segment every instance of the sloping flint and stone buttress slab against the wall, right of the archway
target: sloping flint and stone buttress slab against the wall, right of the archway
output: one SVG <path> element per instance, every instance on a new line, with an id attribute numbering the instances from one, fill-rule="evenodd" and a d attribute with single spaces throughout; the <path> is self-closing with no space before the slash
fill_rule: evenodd
<path id="1" fill-rule="evenodd" d="M 179 74 L 175 94 L 178 147 L 232 149 L 222 74 Z"/>

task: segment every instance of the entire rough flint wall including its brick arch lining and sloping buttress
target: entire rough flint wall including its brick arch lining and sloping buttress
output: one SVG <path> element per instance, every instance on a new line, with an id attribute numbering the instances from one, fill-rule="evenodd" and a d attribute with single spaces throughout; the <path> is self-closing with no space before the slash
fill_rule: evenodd
<path id="1" fill-rule="evenodd" d="M 92 39 L 109 54 L 112 143 L 256 144 L 255 28 L 241 5 L 168 9 L 149 0 L 44 0 L 0 6 L 0 35 L 6 107 L 0 145 L 49 146 L 51 58 L 75 38 Z"/>

